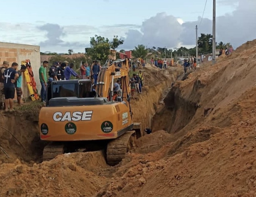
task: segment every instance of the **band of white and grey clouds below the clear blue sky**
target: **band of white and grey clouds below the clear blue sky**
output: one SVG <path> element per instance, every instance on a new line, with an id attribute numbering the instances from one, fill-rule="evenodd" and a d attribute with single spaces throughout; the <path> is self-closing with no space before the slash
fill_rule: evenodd
<path id="1" fill-rule="evenodd" d="M 221 0 L 218 4 L 236 6 L 231 14 L 216 18 L 216 41 L 230 42 L 234 47 L 247 40 L 256 38 L 256 1 L 255 0 Z M 2 42 L 15 42 L 23 44 L 40 45 L 41 51 L 83 52 L 89 47 L 90 37 L 95 34 L 112 38 L 113 35 L 125 37 L 125 42 L 120 49 L 133 49 L 138 44 L 155 47 L 195 46 L 195 26 L 197 21 L 184 22 L 166 13 L 158 13 L 142 22 L 141 26 L 112 25 L 112 26 L 87 26 L 70 25 L 59 26 L 43 21 L 35 24 L 9 24 L 0 23 L 0 37 Z M 212 20 L 203 18 L 198 27 L 200 33 L 212 34 Z"/>

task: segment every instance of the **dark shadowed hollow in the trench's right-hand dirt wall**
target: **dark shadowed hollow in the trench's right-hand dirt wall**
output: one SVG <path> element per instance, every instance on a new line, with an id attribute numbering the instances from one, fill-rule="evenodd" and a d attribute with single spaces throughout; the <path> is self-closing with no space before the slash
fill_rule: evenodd
<path id="1" fill-rule="evenodd" d="M 185 80 L 188 74 L 182 74 L 177 77 L 177 80 Z M 200 107 L 200 94 L 198 89 L 203 85 L 200 81 L 196 81 L 191 88 L 191 98 L 184 98 L 181 94 L 179 86 L 172 86 L 163 93 L 160 107 L 156 110 L 155 115 L 151 119 L 152 130 L 164 130 L 168 133 L 176 133 L 186 127 L 190 123 L 197 109 Z M 192 98 L 193 95 L 198 95 L 198 98 Z M 194 101 L 193 101 L 194 100 Z"/>

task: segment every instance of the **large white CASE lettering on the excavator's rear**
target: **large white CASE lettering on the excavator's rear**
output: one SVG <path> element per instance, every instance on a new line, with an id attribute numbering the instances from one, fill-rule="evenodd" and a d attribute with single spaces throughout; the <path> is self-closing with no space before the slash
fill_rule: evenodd
<path id="1" fill-rule="evenodd" d="M 59 121 L 86 121 L 92 119 L 92 111 L 74 111 L 72 114 L 70 111 L 66 111 L 65 114 L 57 111 L 53 114 L 53 120 L 55 122 Z"/>

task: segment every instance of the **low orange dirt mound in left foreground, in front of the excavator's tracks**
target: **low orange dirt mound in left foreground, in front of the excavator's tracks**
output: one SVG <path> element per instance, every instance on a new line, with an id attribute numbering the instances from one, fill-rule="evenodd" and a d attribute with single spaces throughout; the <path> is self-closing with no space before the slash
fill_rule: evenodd
<path id="1" fill-rule="evenodd" d="M 59 155 L 49 162 L 0 165 L 1 196 L 91 196 L 106 184 L 101 152 Z"/>

